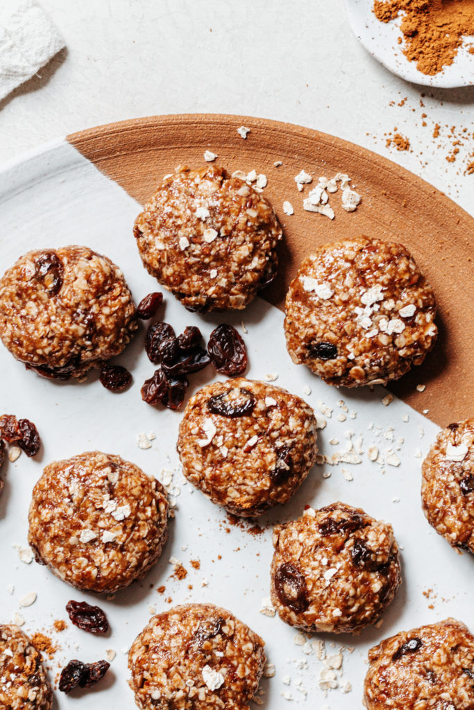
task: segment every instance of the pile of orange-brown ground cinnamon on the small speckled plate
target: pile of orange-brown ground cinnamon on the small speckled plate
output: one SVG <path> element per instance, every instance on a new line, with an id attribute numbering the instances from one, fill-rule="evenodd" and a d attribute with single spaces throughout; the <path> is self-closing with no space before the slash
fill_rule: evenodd
<path id="1" fill-rule="evenodd" d="M 374 0 L 381 22 L 400 12 L 403 53 L 423 74 L 438 74 L 451 65 L 465 37 L 474 35 L 474 0 Z M 474 53 L 472 45 L 469 52 Z"/>

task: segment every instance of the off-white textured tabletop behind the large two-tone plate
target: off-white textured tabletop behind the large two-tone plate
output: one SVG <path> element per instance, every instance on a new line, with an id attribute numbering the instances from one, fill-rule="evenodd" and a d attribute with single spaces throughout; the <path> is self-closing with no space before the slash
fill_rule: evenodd
<path id="1" fill-rule="evenodd" d="M 41 4 L 68 49 L 41 78 L 0 103 L 0 163 L 41 141 L 108 121 L 192 111 L 249 114 L 375 149 L 474 214 L 474 175 L 464 175 L 473 151 L 474 87 L 424 89 L 420 107 L 422 89 L 390 74 L 357 42 L 343 0 Z M 404 97 L 402 107 L 389 106 Z M 441 134 L 433 140 L 436 123 Z M 471 140 L 448 163 L 445 126 L 453 124 L 465 127 Z M 385 147 L 383 134 L 395 126 L 413 152 Z"/>

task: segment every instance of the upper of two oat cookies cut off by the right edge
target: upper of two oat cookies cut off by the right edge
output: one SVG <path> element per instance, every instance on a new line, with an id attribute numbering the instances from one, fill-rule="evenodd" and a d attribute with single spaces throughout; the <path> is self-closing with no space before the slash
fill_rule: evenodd
<path id="1" fill-rule="evenodd" d="M 439 432 L 421 472 L 429 524 L 452 547 L 474 553 L 474 419 Z"/>

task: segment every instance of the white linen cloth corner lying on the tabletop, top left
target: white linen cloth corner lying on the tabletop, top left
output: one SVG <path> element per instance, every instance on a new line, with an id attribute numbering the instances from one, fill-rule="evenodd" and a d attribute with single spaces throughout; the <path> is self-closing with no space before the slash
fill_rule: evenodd
<path id="1" fill-rule="evenodd" d="M 35 0 L 0 0 L 0 100 L 36 74 L 64 45 Z"/>

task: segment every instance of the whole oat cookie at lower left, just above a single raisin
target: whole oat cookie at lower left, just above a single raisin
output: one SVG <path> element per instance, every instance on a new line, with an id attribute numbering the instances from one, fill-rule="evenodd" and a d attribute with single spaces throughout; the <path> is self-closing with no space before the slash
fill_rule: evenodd
<path id="1" fill-rule="evenodd" d="M 84 591 L 113 594 L 141 579 L 168 536 L 163 486 L 119 456 L 53 461 L 33 488 L 28 542 L 36 561 Z"/>

